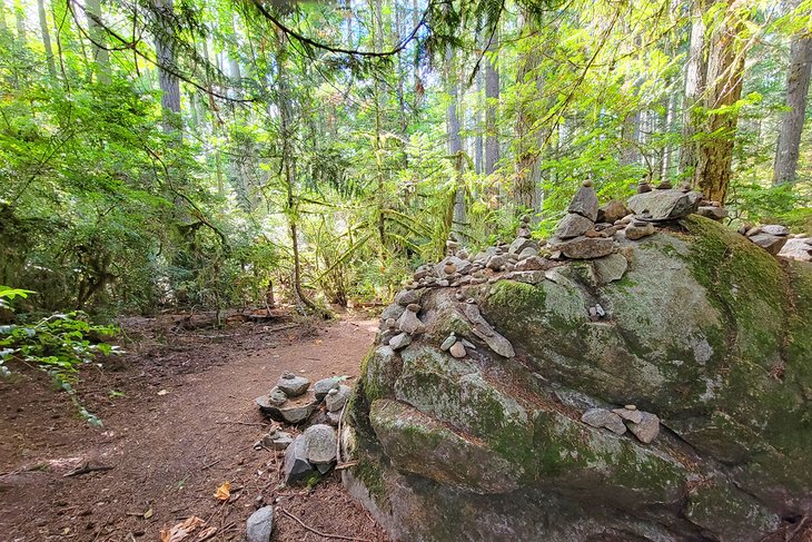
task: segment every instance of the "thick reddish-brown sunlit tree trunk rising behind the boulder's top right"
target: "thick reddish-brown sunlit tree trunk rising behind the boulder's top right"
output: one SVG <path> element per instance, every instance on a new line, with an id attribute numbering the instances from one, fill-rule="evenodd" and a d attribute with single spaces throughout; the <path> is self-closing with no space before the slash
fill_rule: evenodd
<path id="1" fill-rule="evenodd" d="M 737 2 L 727 4 L 724 19 L 711 35 L 707 55 L 707 90 L 704 107 L 716 110 L 735 104 L 742 96 L 744 52 L 739 43 L 741 21 L 737 20 Z M 736 111 L 711 112 L 704 129 L 705 137 L 699 146 L 699 160 L 694 173 L 694 186 L 712 201 L 724 204 L 727 196 L 735 139 Z"/>

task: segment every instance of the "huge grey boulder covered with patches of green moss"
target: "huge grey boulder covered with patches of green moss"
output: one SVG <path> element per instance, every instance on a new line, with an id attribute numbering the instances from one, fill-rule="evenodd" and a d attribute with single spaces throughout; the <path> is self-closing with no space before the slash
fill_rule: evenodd
<path id="1" fill-rule="evenodd" d="M 425 333 L 367 356 L 345 482 L 395 539 L 755 541 L 812 510 L 812 265 L 696 216 L 617 237 L 537 284 L 427 289 Z M 632 404 L 650 444 L 581 420 Z"/>

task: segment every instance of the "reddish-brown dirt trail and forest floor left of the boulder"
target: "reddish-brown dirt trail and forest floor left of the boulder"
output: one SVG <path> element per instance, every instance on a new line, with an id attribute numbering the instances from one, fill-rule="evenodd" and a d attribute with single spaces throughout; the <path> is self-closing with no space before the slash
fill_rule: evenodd
<path id="1" fill-rule="evenodd" d="M 375 326 L 281 316 L 174 332 L 167 319 L 131 318 L 128 353 L 83 367 L 77 385 L 103 427 L 80 420 L 42 372 L 16 371 L 0 381 L 0 540 L 155 541 L 194 515 L 217 528 L 207 540 L 239 541 L 260 496 L 275 505 L 274 541 L 335 540 L 315 531 L 388 540 L 338 473 L 311 490 L 285 487 L 283 452 L 254 450 L 270 427 L 254 398 L 284 371 L 311 382 L 348 375 L 354 385 Z M 82 465 L 111 469 L 66 476 Z M 231 496 L 220 502 L 226 481 Z"/>

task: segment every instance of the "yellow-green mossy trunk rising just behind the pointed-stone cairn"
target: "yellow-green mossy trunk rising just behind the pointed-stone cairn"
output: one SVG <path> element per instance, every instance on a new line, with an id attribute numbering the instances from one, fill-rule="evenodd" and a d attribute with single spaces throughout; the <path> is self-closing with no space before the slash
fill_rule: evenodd
<path id="1" fill-rule="evenodd" d="M 533 19 L 524 14 L 522 31 L 524 39 L 529 39 L 538 30 Z M 542 78 L 535 73 L 541 63 L 541 53 L 536 48 L 523 55 L 518 61 L 516 89 L 519 92 L 516 111 L 516 171 L 514 174 L 513 195 L 517 214 L 531 210 L 532 215 L 541 208 L 541 146 L 543 136 L 535 126 L 538 115 L 535 99 L 542 93 Z"/>

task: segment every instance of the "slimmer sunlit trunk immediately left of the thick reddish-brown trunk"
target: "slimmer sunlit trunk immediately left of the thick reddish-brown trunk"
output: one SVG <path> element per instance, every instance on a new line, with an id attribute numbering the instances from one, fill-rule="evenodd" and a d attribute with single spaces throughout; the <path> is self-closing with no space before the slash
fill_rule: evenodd
<path id="1" fill-rule="evenodd" d="M 697 142 L 700 130 L 699 107 L 705 91 L 707 76 L 707 50 L 705 23 L 702 19 L 710 0 L 694 0 L 691 6 L 691 43 L 685 66 L 685 99 L 682 114 L 682 149 L 680 152 L 680 174 L 693 175 L 696 170 Z"/>

